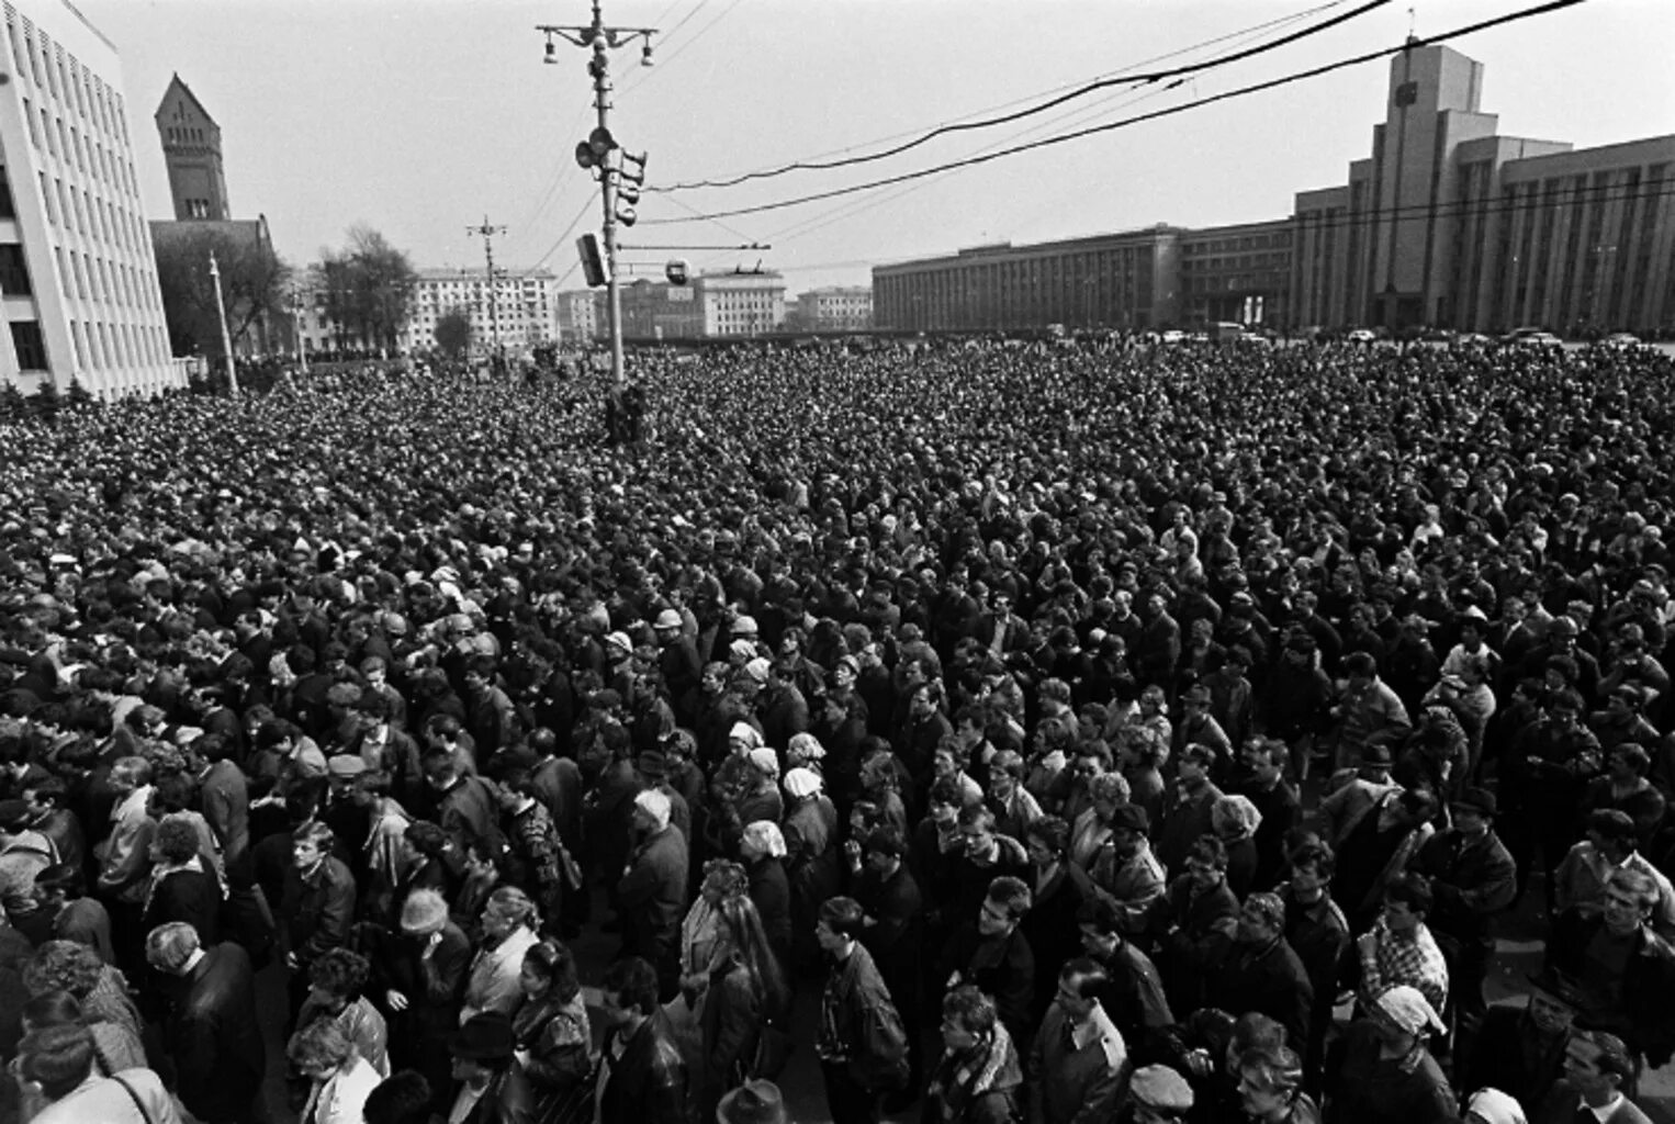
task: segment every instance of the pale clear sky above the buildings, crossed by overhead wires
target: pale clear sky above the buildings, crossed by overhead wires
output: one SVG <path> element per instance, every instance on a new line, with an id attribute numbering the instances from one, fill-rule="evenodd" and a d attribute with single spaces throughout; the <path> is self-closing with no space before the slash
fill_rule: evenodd
<path id="1" fill-rule="evenodd" d="M 652 25 L 658 65 L 613 52 L 613 129 L 650 152 L 648 183 L 725 178 L 864 152 L 936 124 L 1015 109 L 1146 64 L 1266 42 L 1363 0 L 606 0 L 613 25 Z M 648 250 L 698 268 L 779 268 L 792 291 L 864 283 L 868 266 L 982 243 L 1152 223 L 1290 214 L 1295 191 L 1343 183 L 1382 117 L 1387 62 L 861 194 L 764 214 L 652 226 L 926 168 L 998 146 L 1178 106 L 1399 44 L 1409 10 L 1434 35 L 1536 0 L 1394 0 L 1330 32 L 1194 77 L 1107 90 L 1012 126 L 933 141 L 844 171 L 732 189 L 648 194 L 640 245 L 772 243 L 767 251 Z M 496 261 L 573 271 L 598 229 L 596 186 L 571 151 L 591 127 L 588 54 L 543 65 L 536 23 L 581 23 L 586 0 L 77 0 L 122 54 L 141 191 L 169 216 L 152 114 L 178 72 L 219 122 L 233 214 L 268 216 L 303 265 L 370 223 L 419 266 L 481 265 L 484 216 L 509 229 Z M 1322 8 L 1313 15 L 1301 13 Z M 1281 23 L 1288 17 L 1300 17 Z M 1255 30 L 1268 23 L 1266 30 Z M 1204 45 L 1218 40 L 1213 45 Z M 1501 132 L 1578 147 L 1675 132 L 1675 3 L 1590 0 L 1454 40 L 1486 64 Z M 1183 54 L 1176 54 L 1183 52 Z M 1147 60 L 1169 55 L 1162 62 Z M 591 201 L 591 206 L 590 206 Z M 690 208 L 690 209 L 688 209 Z M 647 266 L 650 268 L 650 265 Z"/>

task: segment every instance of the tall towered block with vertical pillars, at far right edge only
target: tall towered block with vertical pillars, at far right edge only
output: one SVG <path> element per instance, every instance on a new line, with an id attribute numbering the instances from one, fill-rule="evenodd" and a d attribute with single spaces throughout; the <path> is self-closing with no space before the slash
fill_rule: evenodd
<path id="1" fill-rule="evenodd" d="M 1372 156 L 1296 196 L 1295 323 L 1675 328 L 1675 136 L 1504 137 L 1481 90 L 1482 64 L 1447 47 L 1390 60 Z"/>

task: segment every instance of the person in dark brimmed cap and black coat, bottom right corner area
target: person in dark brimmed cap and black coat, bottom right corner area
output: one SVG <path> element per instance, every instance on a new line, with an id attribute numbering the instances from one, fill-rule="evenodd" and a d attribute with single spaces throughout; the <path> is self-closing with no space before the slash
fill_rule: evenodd
<path id="1" fill-rule="evenodd" d="M 1576 982 L 1553 968 L 1528 980 L 1524 1003 L 1484 1012 L 1461 1052 L 1461 1089 L 1492 1087 L 1519 1104 L 1539 1106 L 1563 1075 L 1580 1005 Z"/>

